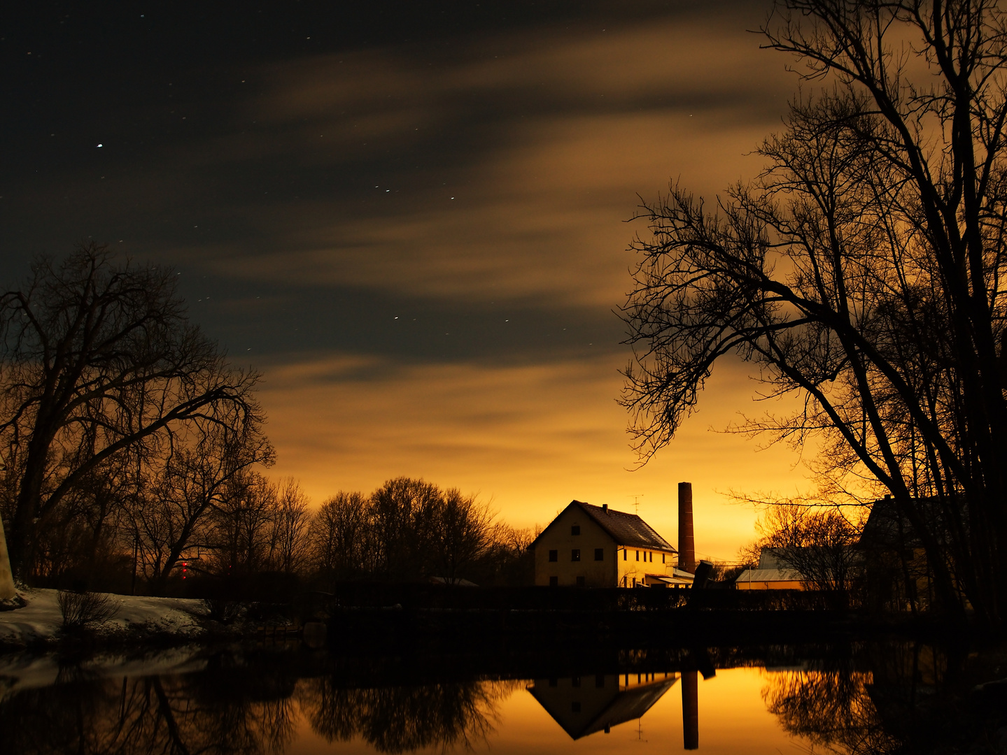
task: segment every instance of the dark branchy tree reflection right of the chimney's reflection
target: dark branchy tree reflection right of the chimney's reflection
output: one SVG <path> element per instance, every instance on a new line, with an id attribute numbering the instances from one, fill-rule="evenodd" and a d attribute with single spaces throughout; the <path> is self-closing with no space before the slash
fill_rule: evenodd
<path id="1" fill-rule="evenodd" d="M 894 752 L 868 695 L 871 675 L 850 670 L 800 671 L 768 675 L 762 700 L 788 734 L 851 755 Z"/>

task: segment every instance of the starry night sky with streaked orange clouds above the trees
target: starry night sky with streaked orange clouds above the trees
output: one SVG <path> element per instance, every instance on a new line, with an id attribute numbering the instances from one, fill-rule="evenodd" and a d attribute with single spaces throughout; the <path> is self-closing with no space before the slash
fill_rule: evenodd
<path id="1" fill-rule="evenodd" d="M 173 265 L 315 505 L 410 476 L 676 543 L 689 481 L 697 552 L 730 560 L 732 494 L 810 487 L 723 432 L 779 410 L 743 364 L 642 467 L 616 403 L 641 198 L 754 177 L 797 90 L 748 31 L 767 1 L 9 5 L 3 286 L 89 238 Z"/>

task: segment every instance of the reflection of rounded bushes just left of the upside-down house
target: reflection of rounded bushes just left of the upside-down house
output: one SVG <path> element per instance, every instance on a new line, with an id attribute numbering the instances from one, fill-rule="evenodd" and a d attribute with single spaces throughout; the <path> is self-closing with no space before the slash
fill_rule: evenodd
<path id="1" fill-rule="evenodd" d="M 439 746 L 471 749 L 493 732 L 496 706 L 521 683 L 458 682 L 378 689 L 303 680 L 297 699 L 311 728 L 328 742 L 359 734 L 379 752 Z"/>

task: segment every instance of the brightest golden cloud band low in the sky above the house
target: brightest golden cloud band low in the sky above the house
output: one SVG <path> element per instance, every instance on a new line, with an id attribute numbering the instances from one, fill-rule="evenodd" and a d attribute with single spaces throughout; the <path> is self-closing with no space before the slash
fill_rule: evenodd
<path id="1" fill-rule="evenodd" d="M 338 490 L 370 492 L 399 475 L 479 492 L 515 524 L 545 524 L 573 498 L 640 514 L 666 536 L 675 491 L 694 484 L 704 553 L 733 555 L 750 539 L 752 512 L 726 506 L 736 491 L 793 493 L 799 457 L 756 452 L 723 430 L 738 420 L 752 385 L 725 365 L 679 440 L 642 469 L 614 398 L 618 358 L 501 368 L 468 363 L 403 365 L 331 355 L 271 366 L 263 392 L 280 448 L 276 471 L 302 479 L 316 501 Z M 779 410 L 780 404 L 774 403 Z"/>

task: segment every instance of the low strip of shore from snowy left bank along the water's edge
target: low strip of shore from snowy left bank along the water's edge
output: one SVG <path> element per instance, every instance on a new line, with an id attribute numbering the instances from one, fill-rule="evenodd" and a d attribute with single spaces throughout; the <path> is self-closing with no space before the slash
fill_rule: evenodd
<path id="1" fill-rule="evenodd" d="M 680 606 L 650 610 L 605 608 L 444 607 L 401 604 L 333 606 L 319 613 L 296 606 L 271 606 L 260 616 L 222 623 L 196 598 L 110 594 L 115 614 L 103 623 L 64 631 L 56 590 L 22 590 L 22 608 L 0 612 L 0 657 L 23 651 L 95 654 L 156 650 L 197 644 L 257 646 L 301 643 L 306 621 L 324 622 L 310 638 L 315 647 L 351 646 L 364 651 L 397 646 L 415 651 L 458 647 L 472 651 L 566 645 L 662 647 L 671 644 L 740 645 L 856 641 L 884 636 L 932 638 L 961 635 L 982 639 L 974 628 L 927 616 L 867 616 L 826 609 L 741 610 Z M 812 640 L 814 638 L 814 640 Z"/>

